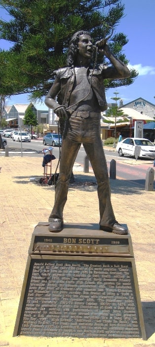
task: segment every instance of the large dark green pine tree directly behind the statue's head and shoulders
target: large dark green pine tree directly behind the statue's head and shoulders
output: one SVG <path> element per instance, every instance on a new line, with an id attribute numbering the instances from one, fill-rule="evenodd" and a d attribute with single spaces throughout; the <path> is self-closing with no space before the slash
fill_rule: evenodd
<path id="1" fill-rule="evenodd" d="M 46 95 L 55 78 L 54 70 L 66 64 L 71 36 L 78 30 L 91 33 L 94 42 L 116 29 L 124 15 L 120 0 L 0 0 L 10 21 L 0 20 L 0 38 L 12 43 L 0 51 L 0 93 L 31 93 L 35 101 Z M 113 34 L 110 48 L 123 62 L 123 33 Z M 106 61 L 106 59 L 105 59 Z M 106 89 L 133 83 L 137 72 L 119 81 L 106 80 Z"/>

